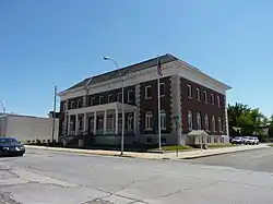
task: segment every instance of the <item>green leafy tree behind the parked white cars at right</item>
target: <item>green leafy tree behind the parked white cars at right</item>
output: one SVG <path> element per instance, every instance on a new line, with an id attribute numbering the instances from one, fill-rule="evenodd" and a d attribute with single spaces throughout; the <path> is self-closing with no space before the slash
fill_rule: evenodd
<path id="1" fill-rule="evenodd" d="M 269 119 L 259 108 L 251 108 L 244 104 L 236 103 L 234 106 L 228 105 L 227 112 L 229 134 L 232 136 L 260 135 L 269 122 Z"/>

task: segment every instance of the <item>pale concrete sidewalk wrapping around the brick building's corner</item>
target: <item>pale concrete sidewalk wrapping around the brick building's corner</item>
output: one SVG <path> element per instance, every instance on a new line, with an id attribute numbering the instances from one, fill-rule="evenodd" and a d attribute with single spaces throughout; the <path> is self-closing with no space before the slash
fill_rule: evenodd
<path id="1" fill-rule="evenodd" d="M 120 156 L 118 151 L 100 151 L 100 149 L 80 149 L 80 148 L 63 148 L 63 147 L 46 147 L 46 146 L 34 146 L 25 145 L 26 148 L 46 149 L 55 152 L 76 153 L 76 154 L 92 154 L 92 155 L 104 155 L 104 156 Z M 268 144 L 259 145 L 238 145 L 235 147 L 223 147 L 223 148 L 211 148 L 211 149 L 194 149 L 187 152 L 166 152 L 159 153 L 135 153 L 124 152 L 123 157 L 144 158 L 144 159 L 191 159 L 199 157 L 207 157 L 213 155 L 222 155 L 235 152 L 251 151 L 258 148 L 266 148 Z"/>

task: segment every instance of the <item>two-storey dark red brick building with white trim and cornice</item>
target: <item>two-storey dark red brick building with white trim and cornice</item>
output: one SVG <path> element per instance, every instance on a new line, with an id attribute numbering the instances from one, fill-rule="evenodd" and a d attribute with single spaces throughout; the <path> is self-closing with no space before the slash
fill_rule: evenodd
<path id="1" fill-rule="evenodd" d="M 162 143 L 185 144 L 191 130 L 205 130 L 211 135 L 207 142 L 221 142 L 221 135 L 228 135 L 226 92 L 230 87 L 171 55 L 159 60 Z M 85 134 L 97 144 L 118 144 L 123 85 L 124 143 L 158 143 L 157 79 L 154 58 L 85 79 L 59 93 L 60 136 Z"/>

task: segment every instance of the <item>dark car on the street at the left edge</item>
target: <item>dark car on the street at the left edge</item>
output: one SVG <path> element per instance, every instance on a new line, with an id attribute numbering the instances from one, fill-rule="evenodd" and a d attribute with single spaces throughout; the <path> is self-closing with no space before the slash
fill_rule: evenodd
<path id="1" fill-rule="evenodd" d="M 0 156 L 23 156 L 25 147 L 16 139 L 0 137 Z"/>

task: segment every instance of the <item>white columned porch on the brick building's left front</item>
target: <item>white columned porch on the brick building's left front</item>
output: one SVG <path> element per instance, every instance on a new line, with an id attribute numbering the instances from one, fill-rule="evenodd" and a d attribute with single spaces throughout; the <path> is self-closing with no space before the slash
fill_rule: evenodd
<path id="1" fill-rule="evenodd" d="M 135 133 L 136 108 L 123 104 L 124 133 Z M 122 131 L 122 104 L 111 103 L 67 111 L 64 120 L 64 135 L 78 134 L 120 134 Z"/>

